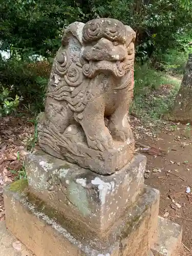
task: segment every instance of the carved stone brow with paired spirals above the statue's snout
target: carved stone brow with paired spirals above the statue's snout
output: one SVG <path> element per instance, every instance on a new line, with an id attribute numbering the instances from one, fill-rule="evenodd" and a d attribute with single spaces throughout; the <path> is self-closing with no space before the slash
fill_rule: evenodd
<path id="1" fill-rule="evenodd" d="M 125 42 L 125 27 L 118 20 L 110 18 L 94 19 L 84 26 L 84 42 L 98 40 L 102 37 Z"/>

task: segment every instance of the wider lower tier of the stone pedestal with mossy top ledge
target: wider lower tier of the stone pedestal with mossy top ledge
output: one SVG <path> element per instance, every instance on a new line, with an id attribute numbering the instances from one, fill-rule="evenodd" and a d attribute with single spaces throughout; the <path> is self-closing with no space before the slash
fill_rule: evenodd
<path id="1" fill-rule="evenodd" d="M 110 234 L 97 238 L 95 230 L 83 233 L 76 222 L 69 227 L 47 204 L 33 201 L 24 190 L 11 191 L 13 187 L 4 190 L 7 227 L 36 256 L 148 256 L 157 230 L 157 190 L 146 187 Z"/>

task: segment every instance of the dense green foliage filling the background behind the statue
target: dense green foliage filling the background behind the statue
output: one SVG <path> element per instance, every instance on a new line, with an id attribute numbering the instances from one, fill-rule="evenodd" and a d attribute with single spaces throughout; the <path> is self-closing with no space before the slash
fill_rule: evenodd
<path id="1" fill-rule="evenodd" d="M 10 92 L 6 111 L 13 108 L 10 102 L 18 97 L 23 97 L 25 107 L 35 114 L 44 109 L 51 70 L 47 60 L 52 60 L 58 50 L 63 30 L 76 20 L 87 22 L 96 17 L 119 19 L 136 31 L 136 61 L 146 63 L 136 66 L 136 105 L 139 97 L 144 104 L 148 93 L 168 82 L 161 72 L 148 67 L 182 74 L 192 50 L 190 0 L 3 0 L 0 52 L 8 51 L 10 59 L 4 60 L 0 54 L 0 82 L 14 85 L 13 89 L 6 86 Z M 147 106 L 154 110 L 159 104 L 164 111 L 170 102 L 162 101 L 153 98 Z"/>

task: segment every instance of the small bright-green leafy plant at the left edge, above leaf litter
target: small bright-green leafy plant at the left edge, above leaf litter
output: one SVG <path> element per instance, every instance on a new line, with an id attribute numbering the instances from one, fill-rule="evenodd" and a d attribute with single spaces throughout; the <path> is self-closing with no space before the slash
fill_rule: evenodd
<path id="1" fill-rule="evenodd" d="M 19 104 L 18 95 L 15 96 L 15 99 L 10 97 L 11 89 L 4 88 L 0 83 L 0 117 L 11 114 Z"/>

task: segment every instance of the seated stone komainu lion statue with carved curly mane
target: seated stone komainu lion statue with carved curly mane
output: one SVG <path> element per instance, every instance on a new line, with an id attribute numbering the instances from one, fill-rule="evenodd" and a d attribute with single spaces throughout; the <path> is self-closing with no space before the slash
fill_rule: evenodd
<path id="1" fill-rule="evenodd" d="M 132 159 L 134 40 L 135 32 L 112 18 L 67 28 L 38 124 L 42 150 L 99 174 Z"/>

